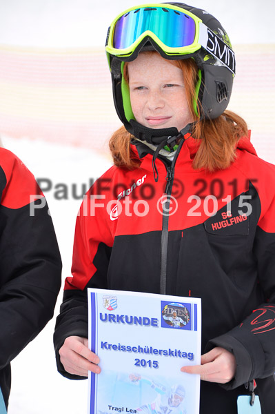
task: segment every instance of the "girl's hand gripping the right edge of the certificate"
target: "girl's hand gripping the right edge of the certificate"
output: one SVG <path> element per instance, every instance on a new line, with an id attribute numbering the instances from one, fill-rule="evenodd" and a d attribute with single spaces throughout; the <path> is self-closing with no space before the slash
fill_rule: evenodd
<path id="1" fill-rule="evenodd" d="M 226 384 L 230 382 L 236 372 L 234 355 L 220 346 L 201 355 L 201 365 L 183 366 L 183 373 L 199 374 L 201 380 Z"/>

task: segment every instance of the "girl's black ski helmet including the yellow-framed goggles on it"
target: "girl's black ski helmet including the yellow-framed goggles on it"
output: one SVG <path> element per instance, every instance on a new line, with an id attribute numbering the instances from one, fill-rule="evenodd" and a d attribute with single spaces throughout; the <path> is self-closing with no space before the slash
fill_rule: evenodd
<path id="1" fill-rule="evenodd" d="M 112 75 L 116 112 L 125 128 L 136 136 L 175 135 L 176 128 L 151 130 L 138 124 L 132 113 L 128 84 L 123 77 L 126 61 L 139 52 L 156 50 L 165 59 L 192 58 L 198 67 L 194 112 L 214 119 L 227 108 L 236 70 L 230 39 L 221 23 L 205 10 L 184 3 L 136 6 L 119 14 L 108 29 L 106 53 Z M 138 127 L 138 128 L 137 128 Z"/>

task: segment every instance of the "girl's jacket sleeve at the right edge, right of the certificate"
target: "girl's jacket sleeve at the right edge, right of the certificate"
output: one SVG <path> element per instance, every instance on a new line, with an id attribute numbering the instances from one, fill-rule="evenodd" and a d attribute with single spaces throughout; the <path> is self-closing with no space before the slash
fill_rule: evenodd
<path id="1" fill-rule="evenodd" d="M 221 346 L 236 357 L 236 376 L 225 384 L 227 389 L 269 377 L 275 372 L 275 198 L 258 221 L 253 255 L 258 273 L 258 295 L 263 295 L 263 303 L 239 326 L 207 344 L 207 351 L 213 346 Z"/>

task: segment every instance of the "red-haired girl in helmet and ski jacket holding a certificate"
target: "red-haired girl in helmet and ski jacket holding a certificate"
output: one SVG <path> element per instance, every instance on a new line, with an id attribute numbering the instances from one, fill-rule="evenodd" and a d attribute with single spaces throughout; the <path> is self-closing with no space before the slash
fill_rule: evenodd
<path id="1" fill-rule="evenodd" d="M 238 413 L 238 397 L 253 400 L 255 387 L 271 414 L 275 169 L 226 110 L 230 40 L 204 10 L 150 4 L 114 20 L 106 51 L 124 126 L 110 140 L 114 166 L 77 217 L 54 334 L 59 371 L 100 373 L 88 287 L 201 297 L 201 366 L 182 368 L 201 375 L 201 414 Z"/>

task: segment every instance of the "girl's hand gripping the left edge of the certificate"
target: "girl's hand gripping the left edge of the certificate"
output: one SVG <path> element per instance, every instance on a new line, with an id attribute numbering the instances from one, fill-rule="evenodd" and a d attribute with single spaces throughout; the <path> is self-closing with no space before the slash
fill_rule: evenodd
<path id="1" fill-rule="evenodd" d="M 88 371 L 99 374 L 99 357 L 88 348 L 88 339 L 70 336 L 59 349 L 61 363 L 70 374 L 88 377 Z"/>

